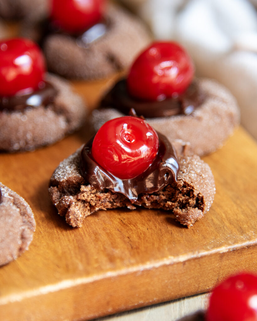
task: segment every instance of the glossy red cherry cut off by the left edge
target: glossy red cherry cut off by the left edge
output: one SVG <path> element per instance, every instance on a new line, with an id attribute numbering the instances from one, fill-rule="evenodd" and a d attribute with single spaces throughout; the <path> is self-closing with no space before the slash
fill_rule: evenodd
<path id="1" fill-rule="evenodd" d="M 45 59 L 31 40 L 16 38 L 0 42 L 0 96 L 30 93 L 45 76 Z"/>

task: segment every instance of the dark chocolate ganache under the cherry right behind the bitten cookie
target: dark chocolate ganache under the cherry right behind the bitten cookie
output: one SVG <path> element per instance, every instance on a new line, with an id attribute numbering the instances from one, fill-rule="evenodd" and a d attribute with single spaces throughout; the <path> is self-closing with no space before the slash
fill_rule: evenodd
<path id="1" fill-rule="evenodd" d="M 205 100 L 205 94 L 192 82 L 186 92 L 162 101 L 144 101 L 129 95 L 126 79 L 117 82 L 100 103 L 99 108 L 115 108 L 128 115 L 134 108 L 137 115 L 146 118 L 190 115 Z"/>

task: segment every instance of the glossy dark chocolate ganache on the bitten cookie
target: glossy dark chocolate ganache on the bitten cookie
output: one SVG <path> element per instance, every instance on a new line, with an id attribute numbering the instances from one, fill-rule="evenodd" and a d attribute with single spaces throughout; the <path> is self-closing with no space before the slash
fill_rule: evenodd
<path id="1" fill-rule="evenodd" d="M 93 159 L 93 138 L 84 145 L 80 155 L 80 171 L 85 181 L 96 189 L 110 189 L 124 194 L 135 202 L 140 193 L 154 193 L 177 180 L 179 163 L 173 146 L 160 134 L 159 150 L 153 163 L 142 174 L 131 179 L 120 179 L 100 167 Z"/>

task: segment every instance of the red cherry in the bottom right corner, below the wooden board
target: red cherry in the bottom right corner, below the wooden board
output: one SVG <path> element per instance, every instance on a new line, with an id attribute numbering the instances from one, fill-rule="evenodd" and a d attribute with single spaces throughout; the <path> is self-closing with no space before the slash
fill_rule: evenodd
<path id="1" fill-rule="evenodd" d="M 241 273 L 219 284 L 210 297 L 206 321 L 257 321 L 257 276 Z"/>

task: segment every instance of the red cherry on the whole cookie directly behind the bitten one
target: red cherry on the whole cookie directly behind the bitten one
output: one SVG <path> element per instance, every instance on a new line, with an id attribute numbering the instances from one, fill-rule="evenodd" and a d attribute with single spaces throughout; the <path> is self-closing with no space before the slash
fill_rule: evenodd
<path id="1" fill-rule="evenodd" d="M 191 57 L 175 42 L 154 42 L 132 65 L 129 94 L 143 100 L 164 100 L 182 94 L 194 76 Z"/>

